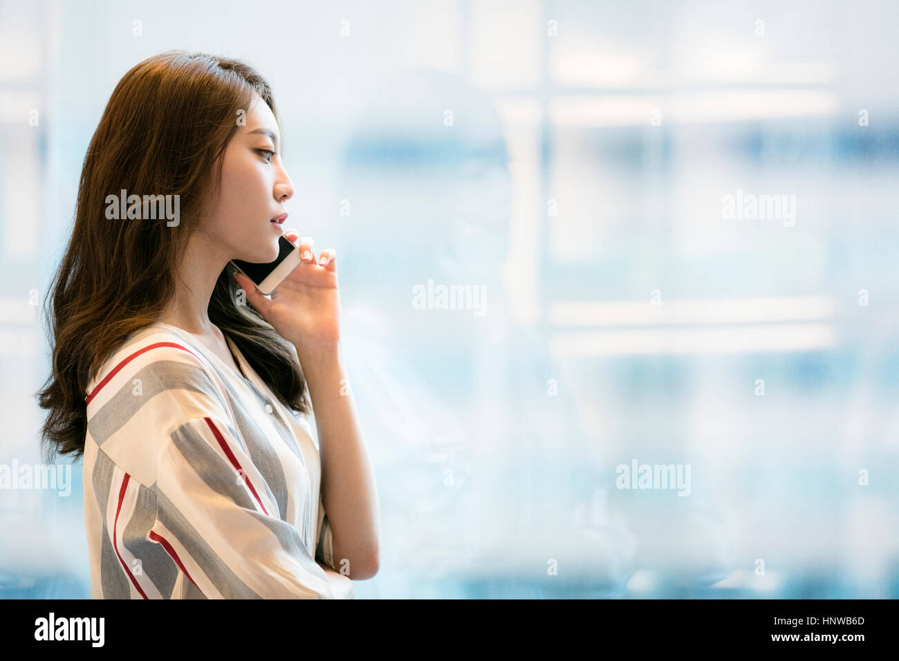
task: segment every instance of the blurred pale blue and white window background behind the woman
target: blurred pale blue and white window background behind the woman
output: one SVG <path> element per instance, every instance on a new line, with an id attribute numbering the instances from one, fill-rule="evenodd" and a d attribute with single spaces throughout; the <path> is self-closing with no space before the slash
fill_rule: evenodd
<path id="1" fill-rule="evenodd" d="M 337 251 L 383 535 L 357 598 L 899 597 L 897 23 L 0 2 L 0 469 L 41 461 L 40 304 L 111 91 L 209 51 L 273 85 L 287 209 Z M 90 596 L 70 470 L 0 486 L 0 597 Z"/>

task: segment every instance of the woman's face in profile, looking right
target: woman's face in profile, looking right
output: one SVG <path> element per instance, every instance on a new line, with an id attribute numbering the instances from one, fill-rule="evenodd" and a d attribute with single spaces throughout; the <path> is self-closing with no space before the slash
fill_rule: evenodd
<path id="1" fill-rule="evenodd" d="M 228 259 L 271 262 L 288 227 L 271 219 L 285 212 L 293 183 L 280 160 L 278 123 L 258 94 L 245 119 L 226 147 L 221 194 L 211 202 L 204 231 L 223 246 Z"/>

